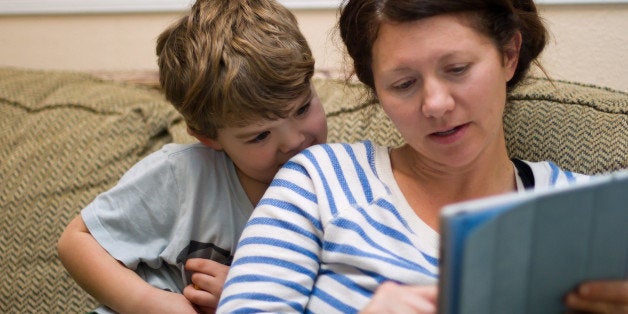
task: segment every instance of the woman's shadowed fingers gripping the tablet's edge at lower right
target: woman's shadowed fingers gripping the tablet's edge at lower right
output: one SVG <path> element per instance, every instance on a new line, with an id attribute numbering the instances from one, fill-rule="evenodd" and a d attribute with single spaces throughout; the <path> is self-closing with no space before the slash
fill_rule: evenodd
<path id="1" fill-rule="evenodd" d="M 628 313 L 628 280 L 585 282 L 569 293 L 565 304 L 592 313 Z"/>

